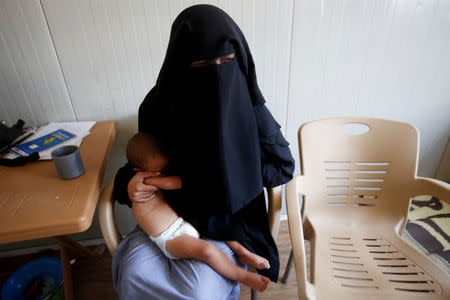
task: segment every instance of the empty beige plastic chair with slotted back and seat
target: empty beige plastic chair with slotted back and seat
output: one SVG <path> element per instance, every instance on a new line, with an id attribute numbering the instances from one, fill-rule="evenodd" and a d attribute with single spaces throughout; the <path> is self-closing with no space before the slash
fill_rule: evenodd
<path id="1" fill-rule="evenodd" d="M 370 130 L 344 133 L 349 123 Z M 302 176 L 286 193 L 299 298 L 450 299 L 450 275 L 400 238 L 412 197 L 450 201 L 449 184 L 416 176 L 417 129 L 332 118 L 302 125 L 298 140 Z M 304 240 L 311 242 L 311 281 Z"/>

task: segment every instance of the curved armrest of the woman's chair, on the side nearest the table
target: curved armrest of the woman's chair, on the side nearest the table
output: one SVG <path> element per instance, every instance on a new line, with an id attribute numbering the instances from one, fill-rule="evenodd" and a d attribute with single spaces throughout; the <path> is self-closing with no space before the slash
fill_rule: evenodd
<path id="1" fill-rule="evenodd" d="M 114 217 L 114 178 L 115 176 L 103 188 L 98 211 L 100 229 L 102 230 L 103 238 L 111 255 L 114 254 L 114 251 L 116 251 L 117 246 L 122 240 L 122 235 Z"/>

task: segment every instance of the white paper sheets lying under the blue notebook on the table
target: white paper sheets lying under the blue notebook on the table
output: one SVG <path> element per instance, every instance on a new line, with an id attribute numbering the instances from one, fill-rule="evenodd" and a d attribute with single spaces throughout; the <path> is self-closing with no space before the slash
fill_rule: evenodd
<path id="1" fill-rule="evenodd" d="M 56 145 L 55 147 L 51 147 L 44 151 L 39 152 L 39 157 L 40 157 L 39 160 L 48 160 L 48 159 L 52 159 L 50 153 L 54 149 L 58 148 L 59 146 L 64 146 L 64 145 L 80 146 L 81 142 L 83 141 L 83 138 L 90 133 L 90 130 L 91 130 L 92 126 L 94 126 L 94 125 L 95 125 L 95 121 L 53 122 L 53 123 L 49 123 L 48 125 L 42 126 L 41 128 L 39 128 L 36 131 L 36 134 L 33 134 L 32 136 L 30 136 L 29 138 L 24 140 L 22 143 L 26 143 L 28 141 L 37 139 L 41 136 L 49 134 L 58 129 L 64 129 L 64 130 L 76 135 L 76 137 L 74 137 L 66 142 L 60 143 L 60 144 Z M 5 155 L 5 158 L 15 158 L 17 156 L 18 155 L 14 154 L 14 153 L 8 153 Z"/>

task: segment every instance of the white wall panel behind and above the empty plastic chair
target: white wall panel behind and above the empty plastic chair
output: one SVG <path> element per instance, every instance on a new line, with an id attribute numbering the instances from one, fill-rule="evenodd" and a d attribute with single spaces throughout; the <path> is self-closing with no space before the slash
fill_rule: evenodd
<path id="1" fill-rule="evenodd" d="M 296 1 L 287 122 L 293 151 L 297 128 L 310 120 L 406 121 L 421 134 L 419 174 L 432 176 L 450 135 L 449 15 L 449 1 Z"/>

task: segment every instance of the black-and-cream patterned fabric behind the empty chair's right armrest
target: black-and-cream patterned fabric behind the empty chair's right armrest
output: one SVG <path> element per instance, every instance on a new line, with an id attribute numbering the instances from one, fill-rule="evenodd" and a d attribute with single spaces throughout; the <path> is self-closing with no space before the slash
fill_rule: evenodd
<path id="1" fill-rule="evenodd" d="M 412 200 L 402 238 L 450 273 L 450 204 L 431 196 Z"/>

